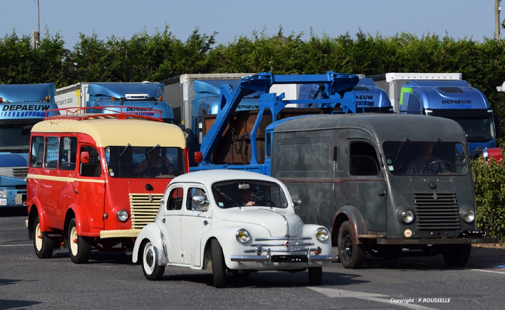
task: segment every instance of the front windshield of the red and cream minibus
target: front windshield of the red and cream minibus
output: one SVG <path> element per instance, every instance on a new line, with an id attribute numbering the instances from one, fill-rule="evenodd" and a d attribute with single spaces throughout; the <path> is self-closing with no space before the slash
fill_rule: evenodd
<path id="1" fill-rule="evenodd" d="M 185 171 L 180 147 L 107 146 L 105 157 L 113 178 L 174 178 Z"/>

